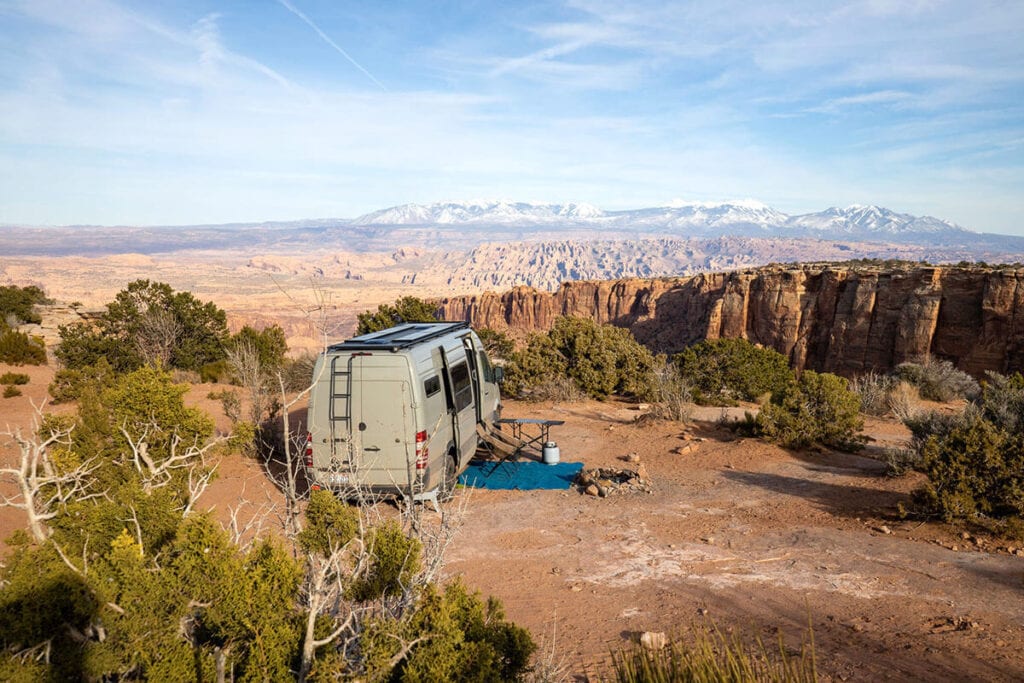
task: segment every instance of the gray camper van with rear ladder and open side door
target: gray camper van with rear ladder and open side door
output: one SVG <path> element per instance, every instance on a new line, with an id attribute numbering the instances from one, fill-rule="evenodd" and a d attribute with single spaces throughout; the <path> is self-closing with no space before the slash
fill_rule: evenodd
<path id="1" fill-rule="evenodd" d="M 500 417 L 495 368 L 467 323 L 407 323 L 329 346 L 309 393 L 306 478 L 340 494 L 455 488 Z"/>

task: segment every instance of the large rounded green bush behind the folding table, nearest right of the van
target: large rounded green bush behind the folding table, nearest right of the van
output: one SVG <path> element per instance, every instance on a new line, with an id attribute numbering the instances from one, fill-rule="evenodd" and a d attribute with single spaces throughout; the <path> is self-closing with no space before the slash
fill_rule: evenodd
<path id="1" fill-rule="evenodd" d="M 658 360 L 629 330 L 582 317 L 559 317 L 546 335 L 534 335 L 511 354 L 505 387 L 528 394 L 545 383 L 571 380 L 595 398 L 647 397 Z"/>

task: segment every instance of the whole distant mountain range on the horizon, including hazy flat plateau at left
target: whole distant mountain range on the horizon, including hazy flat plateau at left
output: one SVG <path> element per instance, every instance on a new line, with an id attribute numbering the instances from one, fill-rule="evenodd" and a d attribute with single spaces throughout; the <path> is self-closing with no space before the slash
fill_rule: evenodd
<path id="1" fill-rule="evenodd" d="M 219 225 L 0 225 L 0 254 L 391 253 L 398 247 L 466 252 L 483 245 L 534 242 L 733 238 L 865 243 L 872 253 L 870 245 L 942 248 L 955 251 L 950 257 L 959 258 L 966 252 L 969 260 L 1016 259 L 1016 255 L 1024 253 L 1024 237 L 976 232 L 940 218 L 878 206 L 833 207 L 791 215 L 752 200 L 676 201 L 667 206 L 620 211 L 589 204 L 497 200 L 403 204 L 356 218 Z"/>

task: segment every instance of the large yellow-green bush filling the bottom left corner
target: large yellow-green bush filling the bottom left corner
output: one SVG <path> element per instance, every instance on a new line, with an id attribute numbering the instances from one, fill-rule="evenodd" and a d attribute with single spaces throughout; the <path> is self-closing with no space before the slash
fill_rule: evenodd
<path id="1" fill-rule="evenodd" d="M 122 508 L 122 519 L 144 498 Z M 287 680 L 299 643 L 298 564 L 268 542 L 240 551 L 206 516 L 169 513 L 172 532 L 144 535 L 142 545 L 123 521 L 113 538 L 88 537 L 84 575 L 52 544 L 19 547 L 3 569 L 0 672 L 37 680 L 213 680 L 219 650 L 234 680 Z M 55 539 L 67 552 L 78 550 L 69 535 Z M 51 638 L 48 667 L 12 656 Z"/>

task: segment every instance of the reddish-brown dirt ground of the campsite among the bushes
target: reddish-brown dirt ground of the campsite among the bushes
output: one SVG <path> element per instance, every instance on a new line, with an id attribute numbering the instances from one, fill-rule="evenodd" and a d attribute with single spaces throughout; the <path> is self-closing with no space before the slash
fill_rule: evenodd
<path id="1" fill-rule="evenodd" d="M 45 397 L 51 374 L 12 370 L 32 381 L 0 399 L 0 429 L 30 424 L 30 399 Z M 190 397 L 223 426 L 211 388 Z M 563 462 L 642 465 L 651 490 L 460 489 L 447 575 L 499 597 L 544 648 L 553 639 L 578 681 L 640 632 L 684 633 L 703 620 L 792 648 L 810 625 L 823 680 L 1024 680 L 1024 550 L 901 518 L 920 478 L 887 477 L 865 456 L 905 440 L 902 426 L 868 420 L 877 440 L 862 456 L 791 453 L 736 438 L 717 426 L 720 414 L 638 423 L 625 403 L 508 402 L 507 417 L 565 421 L 551 433 Z M 0 445 L 4 466 L 15 456 Z M 255 511 L 281 498 L 257 463 L 226 458 L 203 504 L 226 522 L 243 502 Z M 23 523 L 0 508 L 0 538 Z"/>

